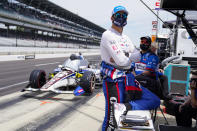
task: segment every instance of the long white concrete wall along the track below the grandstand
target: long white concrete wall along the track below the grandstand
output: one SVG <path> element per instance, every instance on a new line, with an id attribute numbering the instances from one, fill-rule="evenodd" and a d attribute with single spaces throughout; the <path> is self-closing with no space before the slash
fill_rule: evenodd
<path id="1" fill-rule="evenodd" d="M 0 61 L 68 57 L 81 52 L 84 56 L 100 55 L 99 49 L 0 47 Z"/>

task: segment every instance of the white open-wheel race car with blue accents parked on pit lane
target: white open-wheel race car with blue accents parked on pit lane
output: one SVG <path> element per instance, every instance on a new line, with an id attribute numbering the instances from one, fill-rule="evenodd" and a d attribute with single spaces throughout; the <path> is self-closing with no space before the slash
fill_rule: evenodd
<path id="1" fill-rule="evenodd" d="M 92 94 L 95 84 L 101 81 L 100 69 L 92 69 L 86 59 L 73 56 L 71 55 L 63 65 L 59 65 L 53 73 L 50 73 L 48 80 L 44 70 L 33 70 L 29 84 L 22 91 Z M 73 87 L 75 87 L 74 91 L 71 90 Z"/>

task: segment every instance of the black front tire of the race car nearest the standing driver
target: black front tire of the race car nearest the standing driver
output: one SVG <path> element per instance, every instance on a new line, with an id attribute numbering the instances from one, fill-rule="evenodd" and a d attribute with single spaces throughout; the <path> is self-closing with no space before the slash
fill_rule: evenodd
<path id="1" fill-rule="evenodd" d="M 80 78 L 79 85 L 84 89 L 88 94 L 92 94 L 95 88 L 96 76 L 91 71 L 86 71 L 83 73 L 83 76 Z"/>

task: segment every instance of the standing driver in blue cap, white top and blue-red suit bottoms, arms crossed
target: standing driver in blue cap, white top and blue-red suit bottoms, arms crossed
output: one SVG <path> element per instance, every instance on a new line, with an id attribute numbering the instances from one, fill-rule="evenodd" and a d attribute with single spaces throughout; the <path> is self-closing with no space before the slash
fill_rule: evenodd
<path id="1" fill-rule="evenodd" d="M 101 74 L 105 96 L 105 118 L 102 131 L 108 128 L 114 130 L 117 127 L 114 107 L 119 106 L 125 110 L 146 110 L 160 105 L 159 98 L 140 87 L 129 70 L 131 62 L 138 62 L 141 54 L 135 49 L 131 40 L 123 34 L 127 16 L 128 11 L 125 7 L 116 6 L 111 16 L 112 27 L 105 31 L 101 38 Z M 141 101 L 142 98 L 144 101 Z"/>

